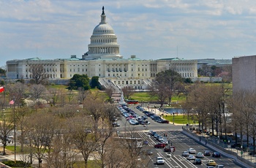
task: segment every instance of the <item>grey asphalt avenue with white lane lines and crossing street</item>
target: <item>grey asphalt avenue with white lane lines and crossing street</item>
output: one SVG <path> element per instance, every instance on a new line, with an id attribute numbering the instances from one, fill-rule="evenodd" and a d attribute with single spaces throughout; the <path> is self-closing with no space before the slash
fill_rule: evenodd
<path id="1" fill-rule="evenodd" d="M 143 112 L 135 109 L 135 107 L 130 107 L 132 110 L 137 112 L 139 115 L 143 115 Z M 182 126 L 180 125 L 173 125 L 173 124 L 166 124 L 166 123 L 157 123 L 151 118 L 148 118 L 148 121 L 151 123 L 148 127 L 144 127 L 141 125 L 132 126 L 130 125 L 124 117 L 121 118 L 121 126 L 118 128 L 118 131 L 127 131 L 127 130 L 134 130 L 140 134 L 140 137 L 143 140 L 147 140 L 149 145 L 143 148 L 151 148 L 153 150 L 152 156 L 142 156 L 143 160 L 145 161 L 145 167 L 206 167 L 206 163 L 209 159 L 214 159 L 217 164 L 223 164 L 225 167 L 239 167 L 236 165 L 233 160 L 228 159 L 226 157 L 221 158 L 214 158 L 212 156 L 206 156 L 204 159 L 201 159 L 203 164 L 201 165 L 194 165 L 192 161 L 188 161 L 186 157 L 181 156 L 182 151 L 187 150 L 188 148 L 195 148 L 197 152 L 203 152 L 204 150 L 210 150 L 204 147 L 203 145 L 198 144 L 194 140 L 191 140 L 189 137 L 181 133 Z M 157 131 L 157 134 L 163 135 L 167 134 L 167 140 L 170 140 L 171 144 L 176 147 L 176 151 L 172 153 L 172 156 L 169 157 L 162 149 L 155 149 L 153 148 L 155 144 L 157 144 L 157 140 L 154 140 L 154 137 L 148 135 L 148 130 Z M 211 151 L 211 150 L 210 150 Z M 211 151 L 213 153 L 214 151 Z M 164 165 L 156 165 L 156 158 L 157 156 L 162 156 L 165 159 Z"/>

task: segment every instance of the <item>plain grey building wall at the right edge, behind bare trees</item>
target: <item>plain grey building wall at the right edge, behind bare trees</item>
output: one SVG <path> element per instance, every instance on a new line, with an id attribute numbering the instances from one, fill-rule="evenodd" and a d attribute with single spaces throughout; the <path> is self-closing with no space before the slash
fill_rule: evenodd
<path id="1" fill-rule="evenodd" d="M 244 56 L 232 59 L 233 91 L 255 89 L 256 56 Z"/>

